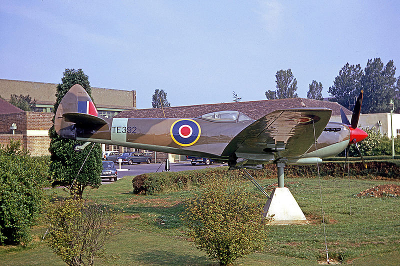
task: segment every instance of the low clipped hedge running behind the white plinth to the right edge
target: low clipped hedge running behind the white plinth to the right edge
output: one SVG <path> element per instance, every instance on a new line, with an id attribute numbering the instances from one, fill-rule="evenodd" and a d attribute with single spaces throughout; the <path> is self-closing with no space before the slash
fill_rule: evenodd
<path id="1" fill-rule="evenodd" d="M 367 178 L 392 178 L 400 179 L 400 160 L 367 161 L 368 168 L 360 161 L 349 162 L 350 176 Z M 249 170 L 255 179 L 276 178 L 277 169 L 275 164 L 265 164 L 263 169 Z M 325 162 L 319 164 L 320 176 L 347 176 L 347 167 L 344 161 Z M 188 170 L 180 172 L 158 172 L 136 175 L 132 179 L 133 193 L 153 194 L 162 192 L 164 189 L 181 190 L 189 185 L 199 185 L 202 180 L 212 175 L 229 176 L 231 178 L 245 178 L 241 169 L 227 170 L 227 167 L 205 168 L 201 170 Z M 286 165 L 286 177 L 315 177 L 317 176 L 316 165 Z"/>

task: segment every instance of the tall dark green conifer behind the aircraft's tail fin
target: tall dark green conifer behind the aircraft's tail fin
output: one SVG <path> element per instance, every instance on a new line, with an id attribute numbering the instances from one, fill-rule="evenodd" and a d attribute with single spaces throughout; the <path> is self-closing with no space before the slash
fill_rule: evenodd
<path id="1" fill-rule="evenodd" d="M 88 76 L 83 73 L 82 69 L 65 69 L 61 80 L 62 83 L 57 85 L 57 92 L 55 93 L 57 99 L 54 103 L 54 113 L 62 97 L 74 84 L 80 84 L 89 95 L 91 92 Z M 75 152 L 73 146 L 75 144 L 81 145 L 84 142 L 60 137 L 55 132 L 54 125 L 49 129 L 49 136 L 51 138 L 49 147 L 51 154 L 50 172 L 54 177 L 53 185 L 69 187 L 89 153 L 91 145 L 87 146 L 81 152 Z M 101 183 L 101 170 L 101 146 L 100 144 L 95 144 L 77 176 L 71 191 L 76 191 L 77 195 L 81 196 L 86 186 L 98 187 Z"/>

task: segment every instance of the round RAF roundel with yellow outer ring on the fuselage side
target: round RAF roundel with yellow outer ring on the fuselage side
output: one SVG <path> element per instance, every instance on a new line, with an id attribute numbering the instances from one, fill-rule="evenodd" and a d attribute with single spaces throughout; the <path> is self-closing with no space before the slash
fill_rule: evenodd
<path id="1" fill-rule="evenodd" d="M 192 119 L 179 119 L 171 125 L 171 138 L 180 146 L 190 146 L 200 137 L 200 125 Z"/>

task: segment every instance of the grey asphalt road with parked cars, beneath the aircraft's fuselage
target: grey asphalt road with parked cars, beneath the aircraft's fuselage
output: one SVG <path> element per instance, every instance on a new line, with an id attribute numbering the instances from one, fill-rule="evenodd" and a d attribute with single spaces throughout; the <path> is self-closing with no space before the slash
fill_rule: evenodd
<path id="1" fill-rule="evenodd" d="M 219 167 L 226 166 L 226 163 L 212 163 L 210 165 L 205 165 L 204 163 L 196 163 L 196 165 L 191 165 L 189 161 L 185 162 L 171 162 L 169 163 L 169 171 L 177 172 L 184 170 L 195 170 L 202 169 L 206 167 Z M 121 165 L 121 169 L 119 169 L 119 164 L 115 164 L 117 169 L 117 179 L 122 178 L 125 175 L 138 175 L 147 172 L 161 172 L 164 170 L 165 163 L 140 163 L 140 164 L 132 164 Z M 113 181 L 108 181 L 108 179 L 103 179 L 102 184 L 112 183 Z"/>

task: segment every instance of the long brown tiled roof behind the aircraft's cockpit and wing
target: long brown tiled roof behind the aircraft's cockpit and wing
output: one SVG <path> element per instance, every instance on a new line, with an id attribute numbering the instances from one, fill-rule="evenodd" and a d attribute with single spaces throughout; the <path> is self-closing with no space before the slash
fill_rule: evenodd
<path id="1" fill-rule="evenodd" d="M 197 117 L 205 113 L 223 110 L 240 111 L 252 119 L 258 119 L 274 110 L 299 108 L 299 107 L 325 107 L 332 110 L 332 115 L 340 115 L 340 107 L 346 114 L 352 112 L 337 102 L 306 99 L 289 98 L 273 100 L 255 100 L 241 102 L 226 102 L 213 104 L 198 104 L 188 106 L 166 107 L 164 108 L 165 117 Z M 157 118 L 164 117 L 161 108 L 148 108 L 127 110 L 118 113 L 114 117 L 137 117 L 137 118 Z"/>

